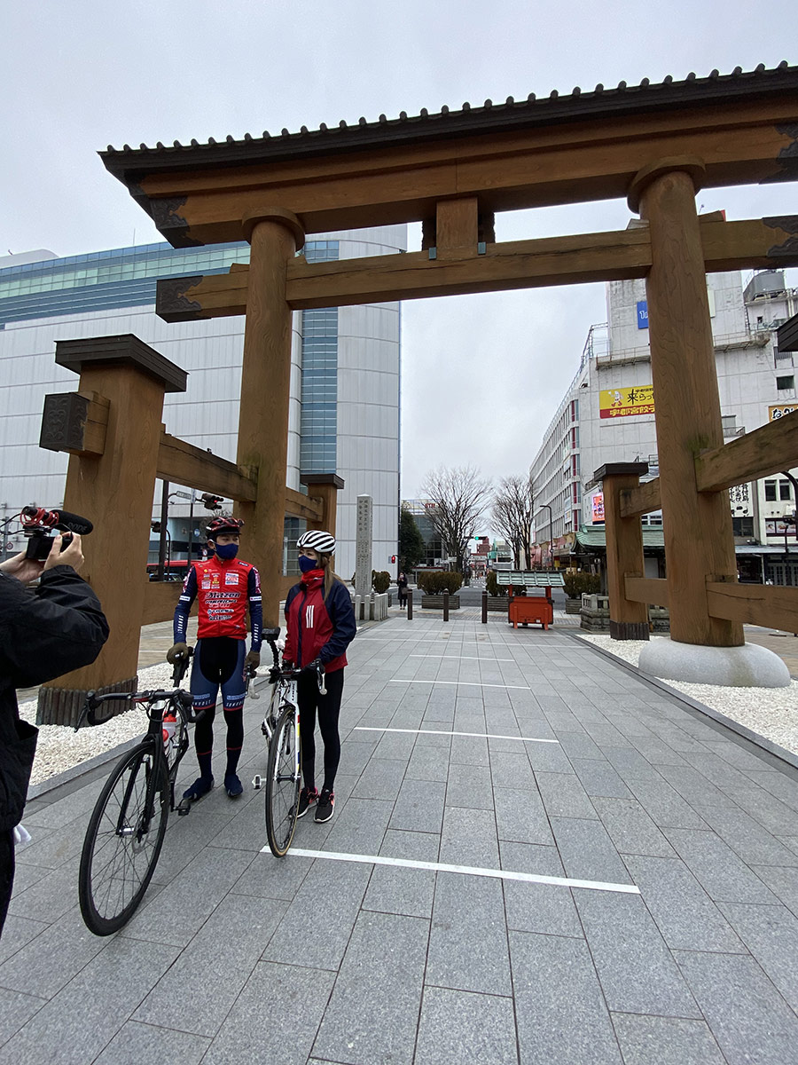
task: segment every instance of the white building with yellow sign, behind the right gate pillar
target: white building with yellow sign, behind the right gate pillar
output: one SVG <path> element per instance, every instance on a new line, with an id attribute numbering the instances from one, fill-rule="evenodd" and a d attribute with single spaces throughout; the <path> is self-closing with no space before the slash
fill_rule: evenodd
<path id="1" fill-rule="evenodd" d="M 780 271 L 754 274 L 745 289 L 739 273 L 708 275 L 706 285 L 729 440 L 798 408 L 798 356 L 776 347 L 776 329 L 798 310 L 798 290 Z M 581 526 L 603 524 L 600 490 L 585 487 L 594 471 L 608 462 L 645 461 L 649 478 L 659 472 L 645 281 L 608 283 L 606 307 L 608 323 L 592 327 L 579 371 L 532 462 L 535 538 L 553 541 L 564 557 Z M 796 525 L 789 521 L 796 492 L 788 477 L 731 489 L 730 507 L 741 578 L 798 585 Z M 662 514 L 643 521 L 661 525 Z"/>

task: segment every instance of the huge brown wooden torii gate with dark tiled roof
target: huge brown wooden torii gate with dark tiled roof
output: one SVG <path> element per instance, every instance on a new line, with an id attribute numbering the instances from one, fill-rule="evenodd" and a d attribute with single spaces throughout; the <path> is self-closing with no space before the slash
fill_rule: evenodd
<path id="1" fill-rule="evenodd" d="M 251 245 L 249 266 L 162 282 L 157 310 L 168 322 L 246 314 L 237 459 L 257 470 L 257 488 L 238 507 L 255 532 L 248 553 L 270 612 L 293 310 L 645 277 L 660 477 L 625 481 L 622 521 L 608 525 L 622 546 L 608 551 L 614 633 L 642 635 L 646 602 L 666 600 L 672 637 L 685 643 L 739 645 L 758 611 L 794 630 L 792 590 L 757 589 L 757 606 L 736 585 L 726 489 L 798 463 L 798 415 L 724 444 L 704 275 L 795 265 L 798 216 L 699 218 L 695 196 L 798 178 L 798 67 L 101 157 L 173 246 Z M 615 197 L 639 212 L 626 230 L 495 241 L 496 212 Z M 416 220 L 418 252 L 319 263 L 297 255 L 307 233 Z M 633 530 L 660 506 L 668 577 L 652 587 Z"/>

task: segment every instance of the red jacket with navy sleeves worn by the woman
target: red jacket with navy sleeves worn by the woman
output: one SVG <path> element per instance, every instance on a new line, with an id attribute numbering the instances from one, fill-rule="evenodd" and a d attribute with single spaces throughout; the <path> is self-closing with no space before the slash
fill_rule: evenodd
<path id="1" fill-rule="evenodd" d="M 339 580 L 333 581 L 325 601 L 325 575 L 321 570 L 305 573 L 285 599 L 285 661 L 298 667 L 320 658 L 328 673 L 343 669 L 345 654 L 356 630 L 349 592 Z"/>

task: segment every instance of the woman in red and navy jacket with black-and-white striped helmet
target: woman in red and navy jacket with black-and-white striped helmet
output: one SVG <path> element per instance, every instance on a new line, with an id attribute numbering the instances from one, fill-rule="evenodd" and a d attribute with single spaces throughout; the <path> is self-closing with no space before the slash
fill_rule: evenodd
<path id="1" fill-rule="evenodd" d="M 333 813 L 335 773 L 340 761 L 338 714 L 344 693 L 346 649 L 354 638 L 354 610 L 349 592 L 332 570 L 335 539 L 311 529 L 297 540 L 302 579 L 285 600 L 286 637 L 283 663 L 303 669 L 317 659 L 326 670 L 327 694 L 318 690 L 317 674 L 309 670 L 297 682 L 302 722 L 302 779 L 299 817 L 316 804 L 316 821 L 329 821 Z M 325 743 L 325 781 L 316 789 L 316 716 Z"/>

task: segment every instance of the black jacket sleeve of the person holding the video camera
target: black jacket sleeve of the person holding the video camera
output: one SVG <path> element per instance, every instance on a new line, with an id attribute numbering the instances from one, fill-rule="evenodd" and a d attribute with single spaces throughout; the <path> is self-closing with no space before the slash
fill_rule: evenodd
<path id="1" fill-rule="evenodd" d="M 100 601 L 71 566 L 41 574 L 32 594 L 0 573 L 0 674 L 14 688 L 88 666 L 109 638 Z"/>

